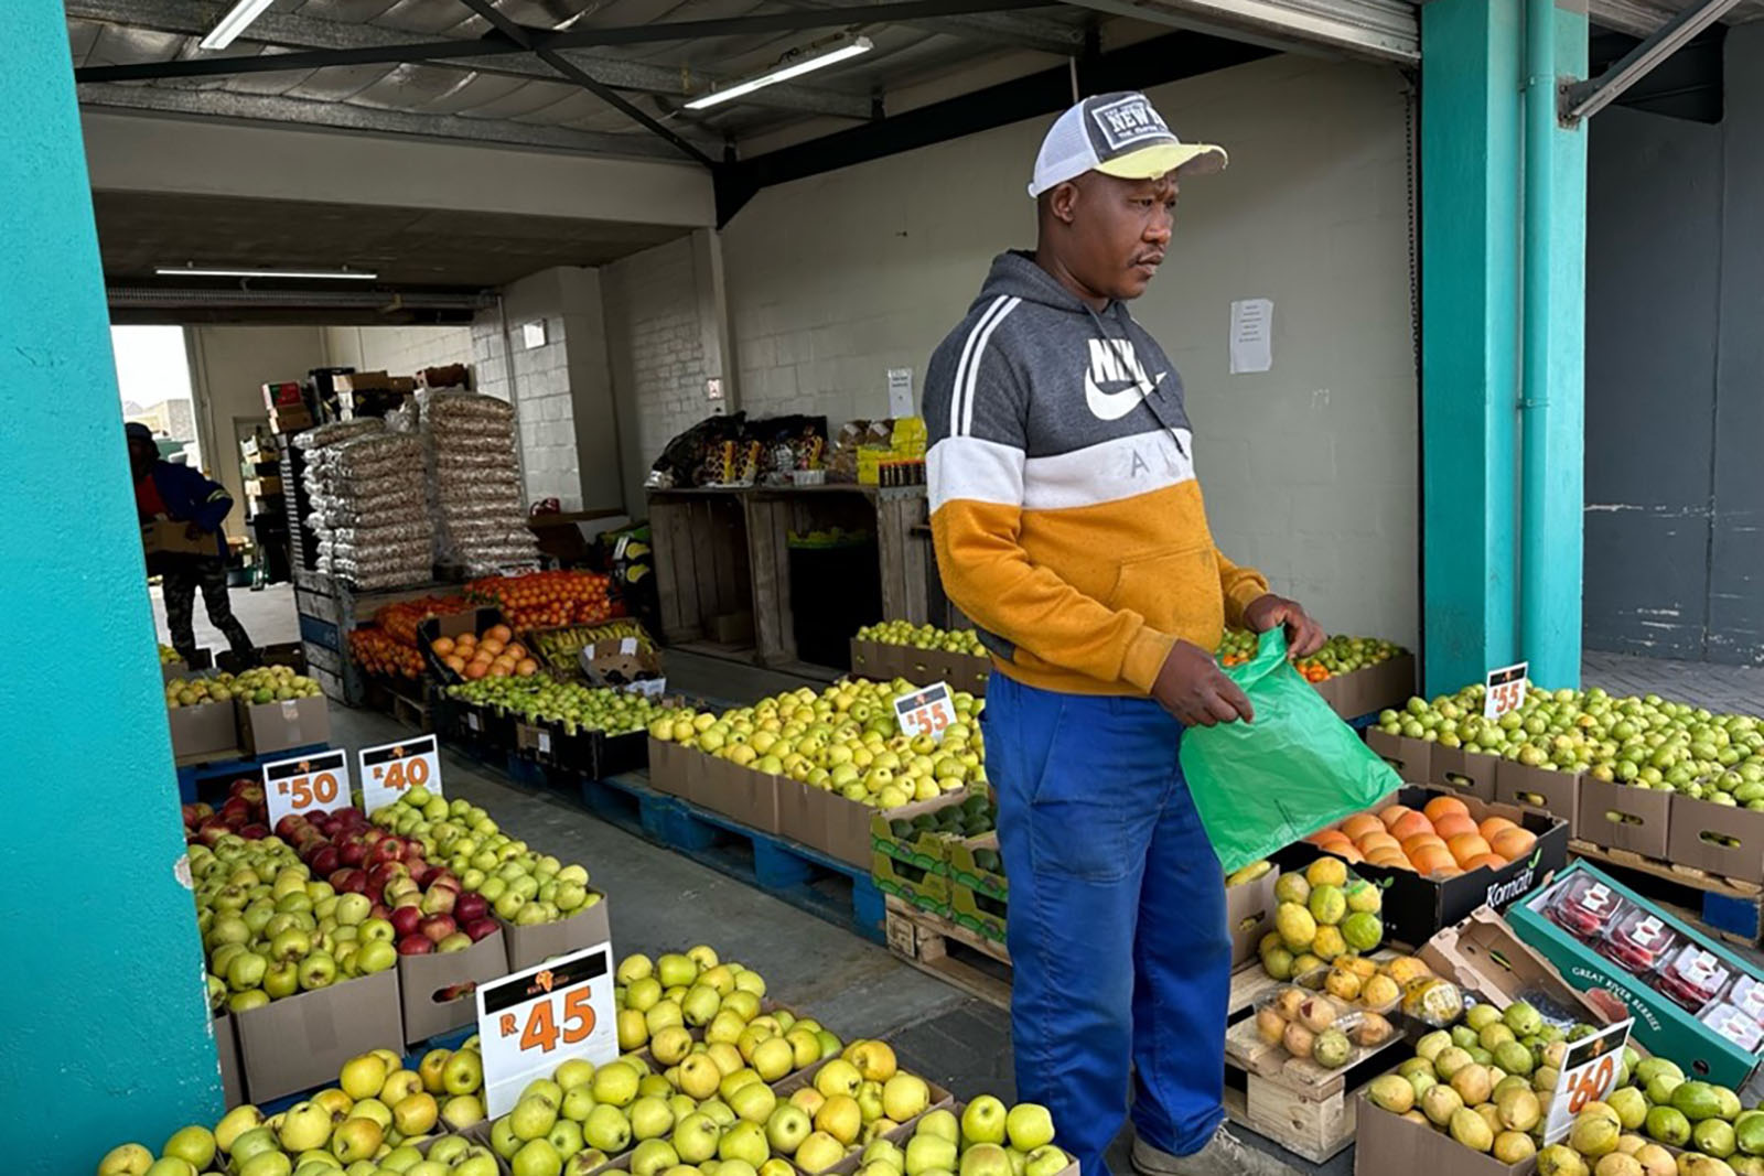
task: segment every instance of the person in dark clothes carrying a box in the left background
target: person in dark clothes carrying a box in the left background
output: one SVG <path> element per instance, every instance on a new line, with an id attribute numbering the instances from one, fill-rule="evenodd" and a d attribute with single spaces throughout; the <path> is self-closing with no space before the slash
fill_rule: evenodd
<path id="1" fill-rule="evenodd" d="M 134 474 L 134 508 L 141 522 L 171 518 L 185 524 L 192 540 L 213 536 L 213 555 L 185 552 L 153 552 L 146 569 L 159 577 L 166 592 L 166 628 L 171 629 L 171 647 L 191 661 L 196 656 L 196 589 L 203 591 L 208 621 L 226 635 L 228 645 L 245 663 L 256 661 L 256 649 L 245 626 L 233 615 L 233 601 L 226 589 L 226 538 L 220 520 L 233 510 L 233 497 L 220 483 L 203 478 L 189 465 L 159 460 L 153 432 L 141 421 L 123 427 L 129 439 L 129 473 Z"/>

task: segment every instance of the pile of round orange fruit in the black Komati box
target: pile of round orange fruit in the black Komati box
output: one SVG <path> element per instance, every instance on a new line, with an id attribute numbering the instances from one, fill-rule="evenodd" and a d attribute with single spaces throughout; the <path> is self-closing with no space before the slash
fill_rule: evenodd
<path id="1" fill-rule="evenodd" d="M 1349 862 L 1455 878 L 1484 866 L 1505 869 L 1531 852 L 1536 836 L 1505 816 L 1476 822 L 1457 797 L 1434 797 L 1422 809 L 1392 804 L 1357 813 L 1305 841 Z"/>

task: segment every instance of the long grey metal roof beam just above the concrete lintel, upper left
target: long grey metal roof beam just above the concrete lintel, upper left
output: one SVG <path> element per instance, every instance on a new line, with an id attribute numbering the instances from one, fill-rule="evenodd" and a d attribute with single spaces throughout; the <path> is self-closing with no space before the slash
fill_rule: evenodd
<path id="1" fill-rule="evenodd" d="M 206 115 L 212 118 L 252 118 L 259 122 L 305 123 L 377 134 L 415 134 L 425 138 L 497 143 L 503 146 L 547 148 L 591 155 L 635 155 L 644 159 L 679 159 L 679 152 L 639 134 L 600 134 L 506 122 L 499 118 L 462 118 L 459 115 L 413 115 L 349 102 L 309 102 L 273 95 L 233 93 L 231 90 L 185 90 L 173 86 L 79 86 L 79 104 L 104 109 L 157 111 L 166 115 Z"/>

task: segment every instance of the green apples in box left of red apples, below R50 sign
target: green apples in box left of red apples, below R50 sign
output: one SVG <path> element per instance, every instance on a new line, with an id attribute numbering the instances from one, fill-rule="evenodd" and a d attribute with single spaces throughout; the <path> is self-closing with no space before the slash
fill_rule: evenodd
<path id="1" fill-rule="evenodd" d="M 393 926 L 370 917 L 372 899 L 312 878 L 280 837 L 222 834 L 187 852 L 213 1010 L 249 1012 L 397 963 Z"/>

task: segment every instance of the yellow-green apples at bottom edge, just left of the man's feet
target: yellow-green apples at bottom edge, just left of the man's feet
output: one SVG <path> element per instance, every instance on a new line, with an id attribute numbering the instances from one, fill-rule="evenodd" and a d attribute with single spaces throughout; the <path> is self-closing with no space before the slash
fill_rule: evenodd
<path id="1" fill-rule="evenodd" d="M 1071 1164 L 1053 1144 L 1053 1116 L 1039 1104 L 1005 1107 L 981 1095 L 960 1111 L 961 1118 L 946 1109 L 921 1118 L 903 1153 L 866 1153 L 859 1176 L 1057 1176 Z"/>

